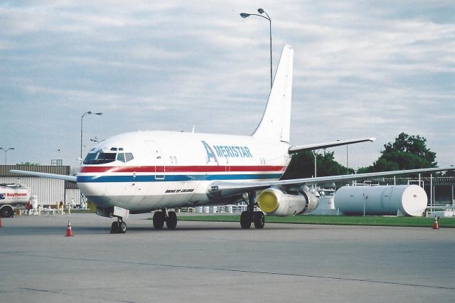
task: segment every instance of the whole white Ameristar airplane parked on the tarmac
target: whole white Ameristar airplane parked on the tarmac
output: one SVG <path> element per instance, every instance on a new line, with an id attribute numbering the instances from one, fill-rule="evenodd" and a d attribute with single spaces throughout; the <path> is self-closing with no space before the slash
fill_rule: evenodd
<path id="1" fill-rule="evenodd" d="M 294 50 L 284 46 L 261 122 L 250 136 L 185 132 L 128 132 L 89 151 L 77 176 L 29 171 L 11 172 L 77 182 L 100 216 L 117 217 L 113 233 L 125 233 L 129 213 L 155 211 L 157 229 L 176 228 L 168 208 L 225 205 L 246 201 L 242 228 L 264 227 L 268 216 L 311 213 L 319 194 L 308 186 L 378 176 L 444 171 L 454 167 L 279 180 L 291 154 L 345 144 L 374 141 L 350 139 L 289 146 Z M 259 195 L 256 198 L 256 194 Z M 258 206 L 261 211 L 254 211 Z"/>

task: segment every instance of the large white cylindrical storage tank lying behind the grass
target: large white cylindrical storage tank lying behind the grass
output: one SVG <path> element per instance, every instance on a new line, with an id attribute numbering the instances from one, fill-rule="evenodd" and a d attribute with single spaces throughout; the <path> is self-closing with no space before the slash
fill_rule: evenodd
<path id="1" fill-rule="evenodd" d="M 335 193 L 335 206 L 345 215 L 422 216 L 427 193 L 417 185 L 343 186 Z"/>

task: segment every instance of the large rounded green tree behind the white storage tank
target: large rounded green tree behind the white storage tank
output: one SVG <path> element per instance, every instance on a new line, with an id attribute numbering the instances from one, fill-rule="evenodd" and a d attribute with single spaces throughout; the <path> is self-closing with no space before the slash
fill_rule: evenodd
<path id="1" fill-rule="evenodd" d="M 436 153 L 427 149 L 426 142 L 424 137 L 410 136 L 402 132 L 395 138 L 395 142 L 384 144 L 381 156 L 372 166 L 363 167 L 359 172 L 436 167 Z"/>

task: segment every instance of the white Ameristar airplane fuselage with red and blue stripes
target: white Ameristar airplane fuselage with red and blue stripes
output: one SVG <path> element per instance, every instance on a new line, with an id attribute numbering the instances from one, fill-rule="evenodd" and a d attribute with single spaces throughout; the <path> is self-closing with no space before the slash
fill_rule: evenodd
<path id="1" fill-rule="evenodd" d="M 250 136 L 186 132 L 129 132 L 87 154 L 77 186 L 98 208 L 131 213 L 239 201 L 208 192 L 213 181 L 279 179 L 289 144 Z"/>

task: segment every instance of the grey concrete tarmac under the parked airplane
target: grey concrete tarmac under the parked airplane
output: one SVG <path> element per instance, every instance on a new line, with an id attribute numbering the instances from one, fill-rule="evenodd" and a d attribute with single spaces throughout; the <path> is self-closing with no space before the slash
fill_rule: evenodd
<path id="1" fill-rule="evenodd" d="M 454 302 L 455 230 L 2 218 L 0 302 Z M 68 220 L 73 237 L 65 237 Z"/>

